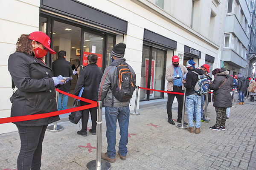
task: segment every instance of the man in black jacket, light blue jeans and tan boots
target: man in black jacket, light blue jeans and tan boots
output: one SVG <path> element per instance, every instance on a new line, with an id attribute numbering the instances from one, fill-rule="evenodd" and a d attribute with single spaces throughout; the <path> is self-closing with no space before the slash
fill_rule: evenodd
<path id="1" fill-rule="evenodd" d="M 186 108 L 189 119 L 189 128 L 187 129 L 190 133 L 199 134 L 201 127 L 201 96 L 196 92 L 195 86 L 198 86 L 198 75 L 204 74 L 204 68 L 193 68 L 194 65 L 188 67 L 189 72 L 186 74 L 186 79 L 182 80 L 184 87 L 186 88 Z M 207 89 L 208 90 L 208 89 Z M 193 114 L 195 112 L 195 130 L 193 123 Z"/>

